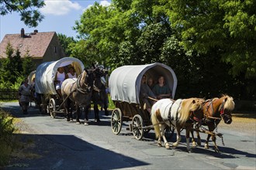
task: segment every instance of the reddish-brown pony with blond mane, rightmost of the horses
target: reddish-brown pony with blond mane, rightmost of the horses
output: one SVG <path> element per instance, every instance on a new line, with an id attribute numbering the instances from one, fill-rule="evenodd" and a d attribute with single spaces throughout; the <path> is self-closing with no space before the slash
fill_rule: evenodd
<path id="1" fill-rule="evenodd" d="M 232 123 L 232 111 L 234 110 L 235 104 L 233 97 L 228 95 L 222 95 L 220 98 L 213 98 L 210 100 L 206 100 L 203 104 L 203 114 L 204 118 L 202 121 L 202 125 L 206 125 L 209 129 L 209 132 L 213 132 L 220 121 L 223 119 L 225 124 Z M 192 133 L 192 143 L 195 146 L 195 138 L 193 131 Z M 199 131 L 196 131 L 197 134 L 197 145 L 201 145 L 201 138 L 199 135 Z M 214 150 L 216 152 L 220 152 L 219 148 L 216 145 L 216 135 L 208 134 L 206 138 L 206 144 L 204 148 L 209 149 L 209 138 L 212 137 Z"/>

